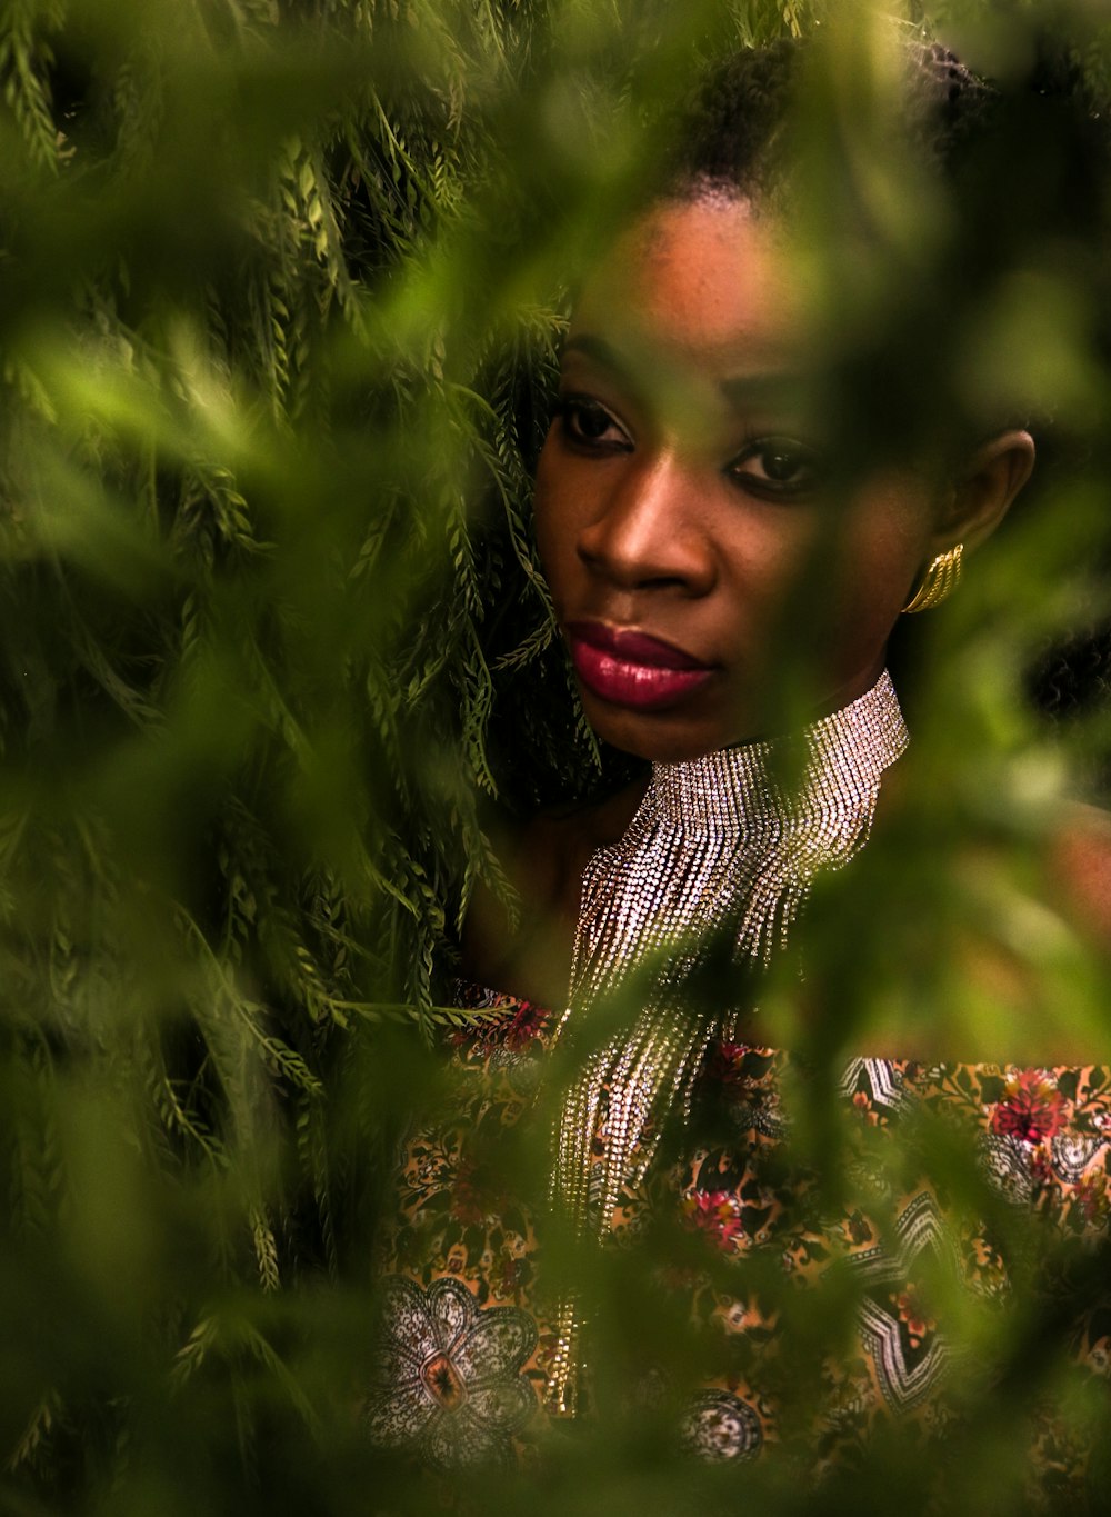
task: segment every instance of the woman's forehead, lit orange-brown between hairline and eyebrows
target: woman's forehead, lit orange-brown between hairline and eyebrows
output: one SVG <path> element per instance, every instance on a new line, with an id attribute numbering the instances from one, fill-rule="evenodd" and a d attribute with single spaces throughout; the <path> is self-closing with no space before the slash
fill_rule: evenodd
<path id="1" fill-rule="evenodd" d="M 782 226 L 712 194 L 656 205 L 618 237 L 581 290 L 568 347 L 743 378 L 797 370 L 808 329 L 808 281 Z"/>

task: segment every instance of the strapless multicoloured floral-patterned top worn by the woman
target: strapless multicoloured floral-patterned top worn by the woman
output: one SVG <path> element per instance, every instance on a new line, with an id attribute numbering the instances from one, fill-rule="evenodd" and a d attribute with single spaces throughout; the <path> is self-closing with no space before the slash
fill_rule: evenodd
<path id="1" fill-rule="evenodd" d="M 453 1035 L 450 1095 L 440 1118 L 405 1144 L 365 1400 L 377 1443 L 441 1468 L 535 1458 L 552 1423 L 540 1406 L 555 1350 L 555 1286 L 546 1285 L 537 1236 L 543 1195 L 529 1204 L 543 1189 L 529 1118 L 555 1019 L 491 992 L 465 1000 L 496 1015 Z M 850 1120 L 831 1129 L 846 1144 L 837 1173 L 850 1182 L 837 1204 L 817 1168 L 785 1159 L 806 1098 L 797 1062 L 711 1044 L 682 1141 L 664 1144 L 614 1214 L 615 1247 L 655 1235 L 661 1309 L 681 1302 L 693 1324 L 705 1374 L 685 1396 L 676 1440 L 714 1462 L 805 1444 L 809 1470 L 820 1473 L 858 1456 L 891 1421 L 937 1437 L 956 1415 L 950 1387 L 976 1368 L 959 1362 L 932 1315 L 931 1300 L 944 1296 L 938 1282 L 1005 1303 L 1017 1280 L 1031 1288 L 1031 1262 L 1017 1255 L 1032 1224 L 1041 1244 L 1066 1255 L 1072 1247 L 1084 1256 L 1108 1235 L 1106 1068 L 852 1060 L 835 1092 Z M 524 1142 L 518 1168 L 518 1132 L 530 1136 L 532 1168 Z M 603 1112 L 599 1174 L 606 1138 Z M 975 1156 L 979 1211 L 934 1173 L 938 1142 Z M 1061 1248 L 1041 1247 L 1040 1258 Z M 661 1258 L 674 1264 L 662 1268 Z M 805 1434 L 781 1420 L 796 1371 L 779 1306 L 761 1286 L 768 1268 L 791 1286 L 843 1292 L 855 1312 L 855 1341 L 820 1365 L 817 1426 Z M 1105 1376 L 1111 1318 L 1090 1309 L 1072 1324 L 1070 1347 L 1079 1373 Z M 650 1376 L 646 1365 L 646 1387 Z M 1067 1424 L 1035 1409 L 1029 1441 L 1035 1475 L 1038 1462 L 1052 1467 L 1053 1499 L 1082 1497 L 1087 1452 Z"/>

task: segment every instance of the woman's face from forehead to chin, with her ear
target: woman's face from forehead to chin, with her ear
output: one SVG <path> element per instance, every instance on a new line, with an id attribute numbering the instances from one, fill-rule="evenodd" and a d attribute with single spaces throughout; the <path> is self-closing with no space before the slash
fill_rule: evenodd
<path id="1" fill-rule="evenodd" d="M 796 270 L 746 200 L 668 202 L 571 320 L 540 552 L 587 716 L 644 758 L 767 736 L 791 671 L 812 716 L 864 693 L 937 551 L 915 472 L 831 482 Z"/>

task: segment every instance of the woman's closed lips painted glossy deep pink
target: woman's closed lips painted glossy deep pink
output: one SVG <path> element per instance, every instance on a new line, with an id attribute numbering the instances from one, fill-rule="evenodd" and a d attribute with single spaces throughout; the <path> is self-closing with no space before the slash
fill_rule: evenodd
<path id="1" fill-rule="evenodd" d="M 674 705 L 714 672 L 681 648 L 647 633 L 570 622 L 574 671 L 593 693 L 614 705 L 649 711 Z"/>

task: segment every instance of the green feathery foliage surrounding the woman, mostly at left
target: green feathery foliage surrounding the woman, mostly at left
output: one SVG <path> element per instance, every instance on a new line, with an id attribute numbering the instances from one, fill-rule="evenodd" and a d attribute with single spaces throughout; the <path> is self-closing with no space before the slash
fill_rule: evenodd
<path id="1" fill-rule="evenodd" d="M 956 9 L 931 14 L 1022 67 L 1035 8 Z M 0 1509 L 415 1505 L 350 1417 L 383 1154 L 458 1015 L 467 903 L 509 900 L 488 804 L 582 795 L 603 763 L 527 525 L 568 270 L 635 188 L 649 105 L 700 55 L 817 24 L 862 46 L 876 17 L 0 9 Z M 1059 24 L 1102 85 L 1094 8 Z M 1056 334 L 1066 399 L 1099 411 L 1091 311 L 1067 269 L 1032 278 L 1037 350 Z M 999 294 L 1008 329 L 1029 311 Z M 993 755 L 953 815 L 926 780 L 934 839 L 1037 830 L 1058 760 L 1022 671 L 1103 590 L 1090 481 L 1070 520 L 1031 514 L 923 677 L 950 722 L 923 696 L 926 777 L 953 743 Z M 1105 981 L 1055 927 L 1023 936 L 1006 860 L 969 910 L 1094 1036 Z M 865 936 L 885 890 L 849 907 Z M 867 960 L 888 1000 L 920 906 L 887 907 L 902 938 Z M 815 953 L 843 995 L 867 978 Z M 650 1473 L 678 1509 L 674 1468 L 618 1455 L 568 1455 L 568 1485 L 634 1509 Z"/>

